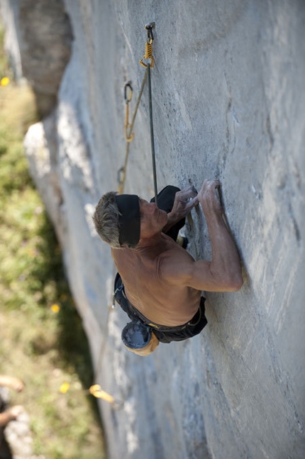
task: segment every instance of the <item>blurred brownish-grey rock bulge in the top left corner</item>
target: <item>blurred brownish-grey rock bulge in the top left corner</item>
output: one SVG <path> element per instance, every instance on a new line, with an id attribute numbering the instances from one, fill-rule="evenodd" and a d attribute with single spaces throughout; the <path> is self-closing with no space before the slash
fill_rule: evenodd
<path id="1" fill-rule="evenodd" d="M 71 55 L 72 28 L 65 6 L 62 0 L 4 0 L 2 9 L 8 12 L 6 23 L 18 24 L 13 31 L 9 28 L 6 40 L 15 73 L 28 79 L 38 111 L 46 116 L 57 103 L 62 73 Z"/>

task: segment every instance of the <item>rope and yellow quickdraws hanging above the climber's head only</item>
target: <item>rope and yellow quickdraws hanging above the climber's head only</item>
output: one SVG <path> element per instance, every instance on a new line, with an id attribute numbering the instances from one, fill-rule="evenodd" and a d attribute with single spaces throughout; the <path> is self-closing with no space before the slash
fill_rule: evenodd
<path id="1" fill-rule="evenodd" d="M 135 111 L 133 112 L 133 118 L 131 123 L 129 123 L 129 104 L 131 103 L 132 96 L 133 96 L 133 87 L 131 86 L 131 82 L 127 82 L 124 87 L 124 98 L 126 102 L 126 114 L 125 114 L 125 123 L 124 123 L 124 132 L 126 138 L 126 155 L 125 155 L 125 162 L 123 167 L 118 170 L 118 193 L 122 194 L 125 182 L 126 182 L 126 170 L 129 158 L 129 149 L 130 143 L 134 138 L 133 133 L 133 125 L 135 123 L 135 116 L 138 112 L 138 107 L 140 105 L 140 99 L 143 94 L 143 90 L 145 87 L 146 79 L 148 79 L 148 104 L 149 104 L 149 116 L 150 116 L 150 143 L 151 143 L 151 152 L 152 152 L 152 162 L 153 162 L 153 182 L 154 182 L 154 192 L 155 192 L 155 199 L 157 204 L 157 172 L 156 172 L 156 164 L 155 164 L 155 139 L 154 139 L 154 132 L 153 132 L 153 97 L 152 97 L 152 88 L 151 88 L 151 75 L 150 69 L 155 65 L 155 59 L 153 57 L 153 29 L 155 28 L 155 23 L 148 23 L 144 26 L 145 30 L 147 31 L 147 40 L 145 43 L 145 54 L 143 55 L 143 59 L 140 60 L 140 65 L 145 67 L 145 73 L 143 76 L 143 82 L 140 87 L 140 92 L 138 95 L 138 100 L 135 105 Z M 145 63 L 143 60 L 150 60 L 150 62 Z"/>

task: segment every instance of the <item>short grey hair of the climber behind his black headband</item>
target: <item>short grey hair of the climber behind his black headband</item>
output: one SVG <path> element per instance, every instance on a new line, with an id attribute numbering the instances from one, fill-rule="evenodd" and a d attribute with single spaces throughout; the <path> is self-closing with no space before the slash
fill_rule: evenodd
<path id="1" fill-rule="evenodd" d="M 121 248 L 118 231 L 119 215 L 116 192 L 109 192 L 101 197 L 92 217 L 99 237 L 113 248 Z"/>

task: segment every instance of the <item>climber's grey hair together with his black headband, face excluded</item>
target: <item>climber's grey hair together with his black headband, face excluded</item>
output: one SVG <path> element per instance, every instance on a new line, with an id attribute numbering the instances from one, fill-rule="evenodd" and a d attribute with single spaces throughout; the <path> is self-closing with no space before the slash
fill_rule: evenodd
<path id="1" fill-rule="evenodd" d="M 140 240 L 140 205 L 135 194 L 104 194 L 93 216 L 97 233 L 113 248 L 135 247 Z"/>

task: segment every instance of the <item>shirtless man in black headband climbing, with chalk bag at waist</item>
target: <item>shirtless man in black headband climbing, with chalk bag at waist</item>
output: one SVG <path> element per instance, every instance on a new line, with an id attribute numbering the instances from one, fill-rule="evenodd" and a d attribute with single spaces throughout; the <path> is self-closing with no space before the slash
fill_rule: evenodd
<path id="1" fill-rule="evenodd" d="M 148 355 L 206 326 L 202 291 L 233 292 L 243 285 L 238 250 L 224 220 L 220 182 L 204 180 L 182 191 L 168 186 L 154 200 L 109 192 L 96 206 L 97 233 L 111 245 L 118 274 L 115 298 L 131 318 L 123 329 L 126 347 Z M 212 260 L 195 261 L 176 243 L 185 216 L 201 204 L 211 239 Z"/>

